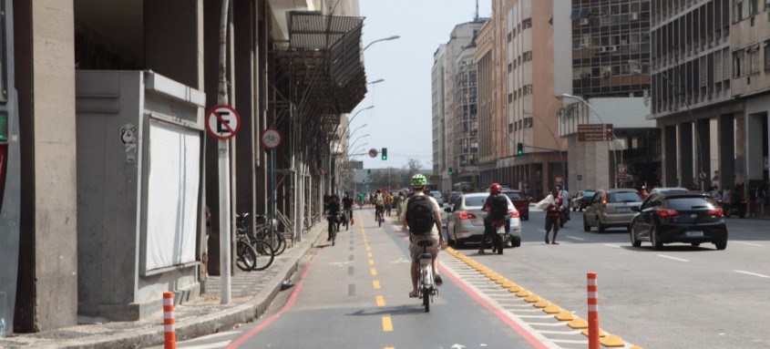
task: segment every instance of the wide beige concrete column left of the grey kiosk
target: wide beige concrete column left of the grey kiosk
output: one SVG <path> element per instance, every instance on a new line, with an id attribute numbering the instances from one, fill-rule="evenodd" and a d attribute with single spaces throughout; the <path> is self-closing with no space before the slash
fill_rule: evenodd
<path id="1" fill-rule="evenodd" d="M 20 0 L 14 7 L 22 141 L 15 327 L 46 331 L 77 324 L 74 5 Z"/>

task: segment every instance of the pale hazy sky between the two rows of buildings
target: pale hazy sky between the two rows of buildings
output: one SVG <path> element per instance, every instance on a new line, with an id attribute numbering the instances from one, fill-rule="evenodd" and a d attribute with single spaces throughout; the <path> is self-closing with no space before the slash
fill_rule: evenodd
<path id="1" fill-rule="evenodd" d="M 356 157 L 364 161 L 364 169 L 402 168 L 409 159 L 419 160 L 423 169 L 432 169 L 433 54 L 447 43 L 455 26 L 473 20 L 476 0 L 360 0 L 359 5 L 360 15 L 365 17 L 363 46 L 389 36 L 401 37 L 377 42 L 364 51 L 367 81 L 385 81 L 369 85 L 364 100 L 351 113 L 353 117 L 359 110 L 375 106 L 352 119 L 349 128 L 355 143 L 350 151 L 387 148 L 387 160 L 379 155 Z M 491 1 L 479 0 L 479 16 L 491 13 Z M 364 143 L 368 144 L 360 148 Z"/>

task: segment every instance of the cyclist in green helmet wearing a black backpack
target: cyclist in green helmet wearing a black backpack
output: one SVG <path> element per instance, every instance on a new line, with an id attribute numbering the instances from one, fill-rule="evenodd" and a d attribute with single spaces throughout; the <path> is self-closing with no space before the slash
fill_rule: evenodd
<path id="1" fill-rule="evenodd" d="M 433 257 L 433 271 L 436 286 L 442 283 L 441 275 L 438 274 L 438 250 L 439 243 L 444 244 L 444 234 L 440 233 L 441 208 L 438 202 L 430 195 L 425 195 L 427 179 L 421 174 L 412 177 L 410 185 L 415 195 L 406 199 L 402 204 L 401 224 L 404 230 L 409 231 L 409 254 L 412 257 L 412 292 L 409 297 L 419 297 L 417 290 L 417 278 L 419 277 L 419 257 L 423 248 L 417 245 L 417 241 L 432 241 L 433 244 L 427 247 L 427 252 Z"/>

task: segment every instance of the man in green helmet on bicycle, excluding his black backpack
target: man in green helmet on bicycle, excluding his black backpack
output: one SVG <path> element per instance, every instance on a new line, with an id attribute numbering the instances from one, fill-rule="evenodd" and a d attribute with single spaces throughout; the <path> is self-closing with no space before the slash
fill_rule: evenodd
<path id="1" fill-rule="evenodd" d="M 444 244 L 444 234 L 441 233 L 441 208 L 438 206 L 438 202 L 430 195 L 426 195 L 423 191 L 426 189 L 427 179 L 421 174 L 416 174 L 410 181 L 410 186 L 414 195 L 401 204 L 403 215 L 401 216 L 402 229 L 409 231 L 409 254 L 412 257 L 412 292 L 409 293 L 409 297 L 416 298 L 419 296 L 417 290 L 417 279 L 419 278 L 419 256 L 422 253 L 423 248 L 417 245 L 417 241 L 429 240 L 433 241 L 433 244 L 427 247 L 427 252 L 433 257 L 433 271 L 435 273 L 434 280 L 436 285 L 441 285 L 441 275 L 438 274 L 438 250 L 440 244 Z M 417 196 L 426 196 L 430 202 L 431 212 L 433 213 L 433 221 L 435 224 L 430 228 L 427 233 L 418 233 L 413 228 L 409 227 L 410 212 L 409 200 L 414 200 Z M 414 221 L 413 221 L 414 222 Z"/>

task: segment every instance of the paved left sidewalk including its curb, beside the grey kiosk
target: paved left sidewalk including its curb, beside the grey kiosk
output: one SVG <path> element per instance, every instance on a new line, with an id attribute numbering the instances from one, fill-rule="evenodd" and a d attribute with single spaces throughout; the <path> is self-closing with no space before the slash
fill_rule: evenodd
<path id="1" fill-rule="evenodd" d="M 281 291 L 283 280 L 297 271 L 298 261 L 318 235 L 326 231 L 323 221 L 304 234 L 272 265 L 262 272 L 242 272 L 235 268 L 231 278 L 231 303 L 220 303 L 221 279 L 209 276 L 206 293 L 190 303 L 175 305 L 177 341 L 230 330 L 262 316 Z M 14 334 L 0 340 L 0 348 L 143 348 L 163 344 L 163 309 L 136 322 L 101 323 L 99 319 L 78 317 L 78 324 L 36 334 Z"/>

